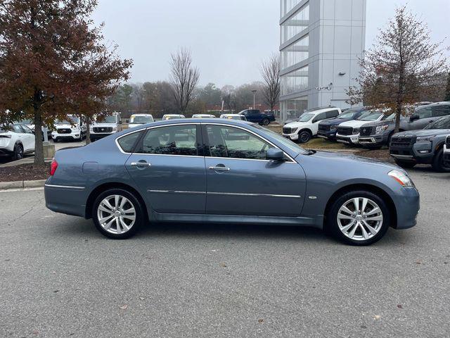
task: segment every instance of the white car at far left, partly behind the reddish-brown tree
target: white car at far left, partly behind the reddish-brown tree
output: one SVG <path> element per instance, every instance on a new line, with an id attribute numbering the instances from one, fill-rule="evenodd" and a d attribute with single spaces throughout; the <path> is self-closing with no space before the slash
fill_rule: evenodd
<path id="1" fill-rule="evenodd" d="M 26 125 L 0 126 L 0 156 L 20 160 L 24 154 L 34 151 L 34 134 Z"/>

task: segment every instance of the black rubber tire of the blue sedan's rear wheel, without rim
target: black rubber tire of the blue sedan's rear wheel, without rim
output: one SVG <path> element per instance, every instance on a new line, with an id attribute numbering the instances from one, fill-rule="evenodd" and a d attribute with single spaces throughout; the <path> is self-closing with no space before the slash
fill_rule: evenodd
<path id="1" fill-rule="evenodd" d="M 98 218 L 97 218 L 98 205 L 101 203 L 101 201 L 103 201 L 103 199 L 105 199 L 105 197 L 110 196 L 110 195 L 121 195 L 121 196 L 126 197 L 127 199 L 129 199 L 129 201 L 131 201 L 131 203 L 134 205 L 134 209 L 136 210 L 136 220 L 134 222 L 134 225 L 133 225 L 133 227 L 131 227 L 131 229 L 128 232 L 125 232 L 124 234 L 112 234 L 112 233 L 104 230 L 103 227 L 101 227 L 100 223 L 98 222 Z M 94 225 L 96 226 L 97 230 L 99 232 L 101 232 L 101 234 L 103 234 L 104 236 L 112 238 L 112 239 L 127 239 L 127 238 L 133 236 L 134 234 L 136 234 L 136 232 L 139 230 L 139 228 L 142 227 L 143 223 L 146 222 L 146 220 L 145 220 L 146 214 L 143 211 L 143 206 L 139 202 L 139 199 L 137 199 L 136 196 L 134 196 L 134 194 L 131 194 L 131 192 L 128 192 L 127 190 L 124 190 L 124 189 L 108 189 L 108 190 L 105 190 L 104 192 L 101 192 L 101 194 L 98 194 L 98 196 L 96 197 L 96 199 L 94 201 L 91 215 L 92 215 L 92 220 L 94 220 Z"/>

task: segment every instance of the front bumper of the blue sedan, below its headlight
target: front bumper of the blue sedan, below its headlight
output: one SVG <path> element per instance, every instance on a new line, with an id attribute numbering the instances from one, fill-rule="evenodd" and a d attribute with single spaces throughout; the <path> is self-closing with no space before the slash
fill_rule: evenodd
<path id="1" fill-rule="evenodd" d="M 395 229 L 409 229 L 417 224 L 417 215 L 420 210 L 420 195 L 416 188 L 402 187 L 401 194 L 392 196 L 397 210 L 397 224 Z"/>

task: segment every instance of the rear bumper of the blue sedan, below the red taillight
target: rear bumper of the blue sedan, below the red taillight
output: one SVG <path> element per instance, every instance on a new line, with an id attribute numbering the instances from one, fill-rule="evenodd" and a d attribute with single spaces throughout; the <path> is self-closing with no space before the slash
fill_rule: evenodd
<path id="1" fill-rule="evenodd" d="M 86 189 L 84 187 L 54 185 L 49 180 L 44 186 L 46 207 L 56 213 L 85 217 Z"/>

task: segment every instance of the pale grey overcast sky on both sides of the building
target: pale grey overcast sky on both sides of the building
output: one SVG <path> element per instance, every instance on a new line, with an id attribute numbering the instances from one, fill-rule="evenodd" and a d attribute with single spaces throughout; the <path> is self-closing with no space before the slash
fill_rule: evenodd
<path id="1" fill-rule="evenodd" d="M 366 47 L 394 8 L 406 2 L 428 23 L 433 39 L 450 35 L 450 0 L 367 0 Z M 184 46 L 200 68 L 200 84 L 239 85 L 260 80 L 259 64 L 278 51 L 278 0 L 98 3 L 94 20 L 105 23 L 105 38 L 119 45 L 120 56 L 134 60 L 131 82 L 167 80 L 170 54 Z"/>

